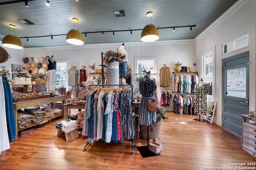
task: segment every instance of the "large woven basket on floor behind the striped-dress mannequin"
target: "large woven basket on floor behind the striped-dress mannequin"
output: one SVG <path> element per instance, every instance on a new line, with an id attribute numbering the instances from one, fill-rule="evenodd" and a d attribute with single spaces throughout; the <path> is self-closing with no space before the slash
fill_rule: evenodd
<path id="1" fill-rule="evenodd" d="M 158 139 L 161 130 L 161 118 L 157 118 L 156 122 L 153 122 L 148 127 L 145 125 L 140 125 L 140 138 L 144 140 L 154 139 L 155 137 Z"/>

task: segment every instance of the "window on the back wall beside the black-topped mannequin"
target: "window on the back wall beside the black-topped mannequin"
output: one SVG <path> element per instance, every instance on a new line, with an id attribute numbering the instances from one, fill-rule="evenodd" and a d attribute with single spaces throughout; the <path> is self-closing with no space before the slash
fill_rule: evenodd
<path id="1" fill-rule="evenodd" d="M 66 77 L 67 77 L 67 66 L 66 63 L 57 63 L 56 66 L 56 77 L 55 77 L 55 86 L 66 87 Z"/>

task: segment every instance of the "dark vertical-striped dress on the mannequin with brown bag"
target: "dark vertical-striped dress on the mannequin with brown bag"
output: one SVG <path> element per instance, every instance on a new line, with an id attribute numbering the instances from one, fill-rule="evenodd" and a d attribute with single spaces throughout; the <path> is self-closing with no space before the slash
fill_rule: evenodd
<path id="1" fill-rule="evenodd" d="M 146 105 L 146 100 L 154 98 L 156 87 L 156 83 L 150 79 L 150 74 L 146 74 L 140 81 L 140 94 L 142 94 L 139 109 L 140 125 L 149 126 L 152 122 L 156 121 L 156 112 L 148 111 Z"/>

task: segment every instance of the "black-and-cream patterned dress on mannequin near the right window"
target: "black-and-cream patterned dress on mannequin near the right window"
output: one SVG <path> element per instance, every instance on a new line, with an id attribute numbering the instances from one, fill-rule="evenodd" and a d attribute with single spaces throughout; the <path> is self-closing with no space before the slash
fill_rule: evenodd
<path id="1" fill-rule="evenodd" d="M 207 94 L 209 94 L 210 88 L 207 83 L 196 85 L 196 114 L 206 115 L 207 113 Z"/>

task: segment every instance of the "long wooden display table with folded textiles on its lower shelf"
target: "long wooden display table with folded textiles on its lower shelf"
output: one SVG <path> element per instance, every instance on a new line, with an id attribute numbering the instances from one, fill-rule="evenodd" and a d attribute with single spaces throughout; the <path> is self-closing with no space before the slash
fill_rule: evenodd
<path id="1" fill-rule="evenodd" d="M 55 97 L 50 97 L 50 98 L 42 98 L 42 99 L 36 99 L 36 100 L 26 100 L 26 101 L 22 101 L 22 102 L 13 102 L 15 124 L 16 124 L 16 137 L 18 138 L 18 131 L 27 129 L 27 128 L 32 127 L 34 125 L 38 125 L 36 123 L 32 123 L 31 125 L 29 125 L 25 128 L 18 129 L 18 121 L 17 121 L 18 109 L 23 109 L 23 108 L 26 108 L 26 107 L 38 106 L 38 105 L 48 104 L 48 103 L 50 103 L 51 108 L 53 108 L 53 103 L 58 102 L 58 101 L 62 101 L 62 103 L 65 104 L 66 103 L 66 96 L 55 96 Z M 40 123 L 43 123 L 45 121 L 54 119 L 54 118 L 59 117 L 59 116 L 62 116 L 63 118 L 65 116 L 63 106 L 62 106 L 62 113 L 53 115 L 52 117 L 46 117 L 46 118 L 44 118 L 44 121 L 42 121 Z"/>

